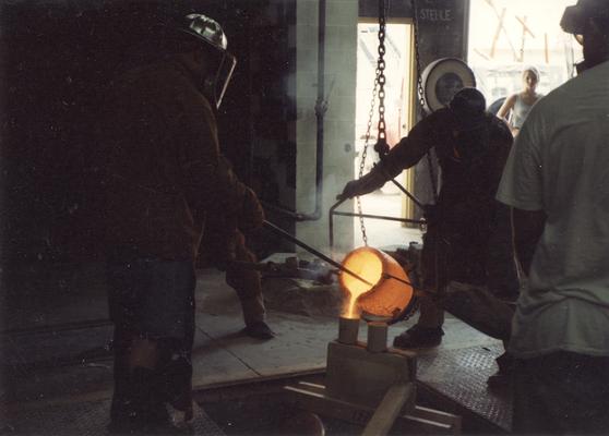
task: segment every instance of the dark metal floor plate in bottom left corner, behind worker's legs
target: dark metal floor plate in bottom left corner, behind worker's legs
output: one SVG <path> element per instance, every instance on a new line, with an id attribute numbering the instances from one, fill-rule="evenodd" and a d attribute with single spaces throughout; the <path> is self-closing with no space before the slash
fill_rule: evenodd
<path id="1" fill-rule="evenodd" d="M 196 408 L 193 421 L 194 436 L 223 436 L 224 432 L 201 408 Z M 69 401 L 48 405 L 33 404 L 10 411 L 8 425 L 0 434 L 57 435 L 57 436 L 107 436 L 110 400 Z"/>

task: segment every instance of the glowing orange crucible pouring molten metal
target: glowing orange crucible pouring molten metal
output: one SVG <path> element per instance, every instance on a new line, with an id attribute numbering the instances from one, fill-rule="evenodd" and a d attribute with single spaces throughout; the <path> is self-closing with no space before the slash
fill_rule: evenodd
<path id="1" fill-rule="evenodd" d="M 358 317 L 366 312 L 394 318 L 410 303 L 413 288 L 394 279 L 409 281 L 408 276 L 386 253 L 362 246 L 347 254 L 343 266 L 372 283 L 370 286 L 348 274 L 341 274 L 341 288 L 348 296 L 344 316 Z"/>

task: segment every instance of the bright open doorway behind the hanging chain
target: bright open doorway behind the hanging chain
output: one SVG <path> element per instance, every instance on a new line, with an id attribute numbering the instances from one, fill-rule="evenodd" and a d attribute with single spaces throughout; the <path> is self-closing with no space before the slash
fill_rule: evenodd
<path id="1" fill-rule="evenodd" d="M 379 24 L 371 20 L 358 23 L 357 45 L 357 98 L 356 98 L 356 159 L 355 173 L 359 175 L 365 149 L 366 160 L 363 173 L 370 171 L 379 160 L 374 152 L 377 142 L 377 125 L 379 121 L 379 100 L 374 98 L 374 77 L 379 50 Z M 385 32 L 385 123 L 386 137 L 390 146 L 394 146 L 405 136 L 414 121 L 413 107 L 415 104 L 415 70 L 413 57 L 413 26 L 409 22 L 390 22 Z M 366 147 L 368 124 L 370 122 L 370 140 Z M 408 191 L 414 187 L 414 177 L 410 171 L 404 171 L 396 180 Z M 357 211 L 357 203 L 355 203 Z M 411 202 L 392 183 L 386 183 L 381 190 L 361 197 L 363 214 L 389 217 L 411 218 L 414 207 Z M 363 244 L 359 219 L 355 218 L 355 246 Z M 372 246 L 406 245 L 410 241 L 420 242 L 420 231 L 405 227 L 399 221 L 379 219 L 365 220 L 368 242 Z"/>

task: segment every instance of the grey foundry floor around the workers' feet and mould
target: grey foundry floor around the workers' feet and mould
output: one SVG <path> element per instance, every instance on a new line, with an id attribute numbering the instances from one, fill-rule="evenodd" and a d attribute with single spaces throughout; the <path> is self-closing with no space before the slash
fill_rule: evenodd
<path id="1" fill-rule="evenodd" d="M 94 275 L 95 271 L 91 274 Z M 215 269 L 199 271 L 196 337 L 193 351 L 195 389 L 203 391 L 243 382 L 271 380 L 323 372 L 327 342 L 337 337 L 336 316 L 326 307 L 319 307 L 319 302 L 323 301 L 319 300 L 319 289 L 296 289 L 289 280 L 279 283 L 278 287 L 285 288 L 284 302 L 290 298 L 307 300 L 310 291 L 318 294 L 318 303 L 309 306 L 292 305 L 294 307 L 288 307 L 288 312 L 279 311 L 271 304 L 267 320 L 277 336 L 268 341 L 260 341 L 240 332 L 242 320 L 239 302 L 235 292 L 224 283 L 223 274 Z M 0 342 L 3 361 L 3 383 L 0 392 L 0 413 L 3 415 L 0 415 L 0 434 L 82 433 L 74 432 L 73 428 L 68 431 L 68 423 L 57 424 L 59 427 L 52 428 L 45 420 L 35 422 L 27 417 L 31 416 L 27 411 L 33 408 L 38 411 L 57 408 L 58 404 L 65 404 L 65 408 L 74 410 L 76 404 L 110 398 L 111 361 L 104 350 L 111 337 L 108 325 L 92 325 L 84 329 L 55 332 L 45 329 L 20 330 L 19 325 L 20 320 L 25 322 L 28 317 L 31 320 L 44 319 L 43 324 L 47 325 L 65 319 L 103 319 L 106 316 L 105 295 L 99 290 L 94 293 L 89 294 L 86 301 L 77 301 L 73 295 L 62 301 L 58 296 L 57 301 L 40 308 L 38 314 L 14 314 L 16 317 L 12 322 L 13 332 L 3 335 Z M 5 324 L 11 325 L 9 323 Z M 413 323 L 414 319 L 410 319 L 391 326 L 390 341 Z M 451 389 L 456 389 L 456 395 L 453 396 L 456 402 L 461 401 L 462 405 L 465 404 L 477 413 L 476 407 L 480 405 L 479 396 L 493 395 L 486 392 L 483 385 L 486 376 L 495 371 L 493 358 L 501 353 L 501 343 L 451 316 L 446 319 L 444 330 L 441 346 L 420 353 L 420 379 L 427 384 L 429 391 L 438 393 L 442 390 L 440 385 L 458 379 L 455 374 L 458 373 L 459 364 L 451 359 L 456 356 L 458 360 L 461 358 L 457 354 L 463 354 L 465 361 L 469 360 L 469 363 L 466 362 L 467 371 L 478 377 L 478 384 L 464 379 L 459 382 L 462 387 L 453 384 Z M 365 339 L 365 332 L 361 330 L 360 339 Z M 480 358 L 480 353 L 485 355 Z M 476 355 L 478 358 L 473 362 L 471 356 Z M 446 360 L 446 356 L 450 359 Z M 479 358 L 485 362 L 482 366 Z M 469 391 L 467 399 L 459 400 L 464 389 L 471 389 L 473 386 L 477 386 L 478 391 Z M 488 408 L 497 409 L 492 401 L 487 404 Z M 468 402 L 473 404 L 468 405 Z M 505 417 L 505 414 L 509 414 L 509 404 L 501 404 L 501 416 L 495 423 L 498 431 L 509 428 Z M 497 414 L 491 411 L 491 415 L 493 413 Z M 483 414 L 482 410 L 481 415 Z M 68 427 L 62 428 L 61 425 Z M 94 426 L 99 423 L 93 420 L 79 425 Z"/>

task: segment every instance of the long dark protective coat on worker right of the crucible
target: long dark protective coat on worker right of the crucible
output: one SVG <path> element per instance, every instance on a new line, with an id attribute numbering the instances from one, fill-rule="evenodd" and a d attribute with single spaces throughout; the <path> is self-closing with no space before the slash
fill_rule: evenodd
<path id="1" fill-rule="evenodd" d="M 427 287 L 443 287 L 450 280 L 487 283 L 491 237 L 498 234 L 498 226 L 499 232 L 509 231 L 503 222 L 506 214 L 494 195 L 512 141 L 505 123 L 490 113 L 483 129 L 459 132 L 451 110 L 440 109 L 421 120 L 379 165 L 379 171 L 395 177 L 432 147 L 438 156 L 441 187 L 437 205 L 426 213 L 421 258 Z M 509 246 L 500 249 L 511 252 Z M 506 259 L 502 268 L 510 270 L 510 255 L 502 258 Z"/>

